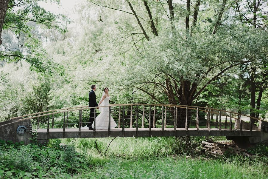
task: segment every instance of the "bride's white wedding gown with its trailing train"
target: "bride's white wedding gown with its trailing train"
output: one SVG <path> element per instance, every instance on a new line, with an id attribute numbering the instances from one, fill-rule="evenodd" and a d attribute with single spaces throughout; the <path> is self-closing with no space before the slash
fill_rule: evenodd
<path id="1" fill-rule="evenodd" d="M 106 97 L 103 100 L 102 106 L 108 106 L 110 101 L 110 97 Z M 108 129 L 109 126 L 109 107 L 100 107 L 99 108 L 101 113 L 96 117 L 96 129 Z M 111 115 L 111 129 L 117 127 L 116 122 L 113 119 L 113 116 Z M 94 123 L 92 124 L 92 127 L 94 127 Z M 88 125 L 81 127 L 81 129 L 88 129 Z"/>

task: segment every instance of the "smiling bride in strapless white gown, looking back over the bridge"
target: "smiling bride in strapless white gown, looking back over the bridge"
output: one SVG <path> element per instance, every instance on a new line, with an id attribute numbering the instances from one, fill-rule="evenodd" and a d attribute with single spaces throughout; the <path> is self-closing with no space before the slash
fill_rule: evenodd
<path id="1" fill-rule="evenodd" d="M 101 112 L 96 117 L 96 129 L 108 129 L 109 126 L 109 107 L 102 107 L 102 106 L 109 106 L 110 101 L 110 95 L 109 95 L 109 89 L 107 87 L 104 88 L 104 92 L 102 95 L 102 99 L 99 101 L 99 111 Z M 114 121 L 112 115 L 111 115 L 111 129 L 117 127 L 116 122 Z M 92 127 L 94 124 L 92 125 Z"/>

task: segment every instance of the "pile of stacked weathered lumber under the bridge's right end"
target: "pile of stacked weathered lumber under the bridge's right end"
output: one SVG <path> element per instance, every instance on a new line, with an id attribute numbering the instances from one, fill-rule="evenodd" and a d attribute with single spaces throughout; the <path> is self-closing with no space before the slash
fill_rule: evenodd
<path id="1" fill-rule="evenodd" d="M 207 152 L 209 155 L 213 155 L 214 157 L 223 156 L 225 152 L 229 152 L 237 155 L 245 155 L 254 159 L 252 155 L 246 153 L 245 149 L 237 148 L 228 144 L 202 141 L 202 146 L 205 152 Z"/>

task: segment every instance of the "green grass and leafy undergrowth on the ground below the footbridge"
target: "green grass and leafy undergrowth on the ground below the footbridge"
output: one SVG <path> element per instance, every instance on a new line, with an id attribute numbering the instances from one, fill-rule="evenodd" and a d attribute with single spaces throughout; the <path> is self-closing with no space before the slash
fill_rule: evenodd
<path id="1" fill-rule="evenodd" d="M 105 157 L 95 141 L 104 154 L 112 138 L 54 139 L 48 146 L 0 142 L 0 178 L 268 178 L 267 147 L 250 149 L 261 154 L 255 160 L 213 159 L 200 153 L 203 139 L 191 137 L 189 146 L 183 137 L 116 138 Z"/>

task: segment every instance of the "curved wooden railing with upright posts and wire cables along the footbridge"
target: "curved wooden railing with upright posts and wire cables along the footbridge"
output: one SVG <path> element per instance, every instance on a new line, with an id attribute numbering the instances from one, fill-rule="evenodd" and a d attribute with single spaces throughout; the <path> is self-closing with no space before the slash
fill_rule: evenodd
<path id="1" fill-rule="evenodd" d="M 90 109 L 94 109 L 94 131 L 96 131 L 97 107 L 72 107 L 20 116 L 18 121 L 31 119 L 32 129 L 77 129 L 81 131 L 89 122 Z M 110 131 L 115 125 L 122 131 L 126 128 L 161 128 L 159 130 L 254 130 L 261 131 L 262 120 L 247 115 L 207 107 L 171 104 L 111 104 L 99 107 L 105 111 L 105 127 Z M 257 123 L 255 125 L 254 123 Z M 98 123 L 100 125 L 101 123 Z M 98 128 L 97 125 L 97 128 Z M 170 129 L 168 129 L 170 128 Z M 142 130 L 142 129 L 140 129 Z"/>

